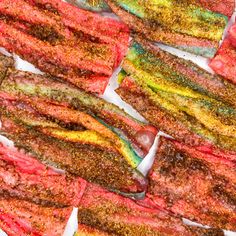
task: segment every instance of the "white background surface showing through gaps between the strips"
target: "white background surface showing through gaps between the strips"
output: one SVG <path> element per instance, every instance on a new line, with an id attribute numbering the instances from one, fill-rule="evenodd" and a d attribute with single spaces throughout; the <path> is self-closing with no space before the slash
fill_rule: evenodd
<path id="1" fill-rule="evenodd" d="M 235 20 L 235 16 L 236 14 L 234 14 L 234 16 L 231 18 L 231 21 L 229 23 L 229 25 L 232 24 L 232 22 Z M 226 29 L 227 31 L 227 29 Z M 175 54 L 179 57 L 185 58 L 187 60 L 191 60 L 193 62 L 195 62 L 196 64 L 198 64 L 199 66 L 201 66 L 202 68 L 208 70 L 209 72 L 212 73 L 212 70 L 208 67 L 207 65 L 207 59 L 200 57 L 200 56 L 195 56 L 192 55 L 190 53 L 187 52 L 183 52 L 180 51 L 178 49 L 174 49 L 171 47 L 167 47 L 167 46 L 163 46 L 158 44 L 161 48 L 169 51 L 172 54 Z M 0 49 L 1 52 L 5 52 L 5 50 Z M 28 62 L 25 62 L 23 60 L 21 60 L 18 56 L 14 55 L 15 59 L 16 59 L 16 67 L 17 69 L 20 70 L 25 70 L 25 71 L 31 71 L 34 73 L 41 73 L 39 70 L 37 70 L 33 65 L 29 64 Z M 120 106 L 121 108 L 123 108 L 126 112 L 128 112 L 129 114 L 131 114 L 132 116 L 134 116 L 135 118 L 141 120 L 141 121 L 145 121 L 145 119 L 139 115 L 131 106 L 129 106 L 128 104 L 126 104 L 125 102 L 123 102 L 120 97 L 115 93 L 114 89 L 116 89 L 118 87 L 117 81 L 116 81 L 116 75 L 119 72 L 119 69 L 114 73 L 113 77 L 110 80 L 109 86 L 107 87 L 105 94 L 102 96 L 104 99 L 106 99 L 109 102 L 113 102 L 116 105 Z M 0 136 L 0 141 L 3 141 L 5 144 L 8 145 L 12 145 L 12 142 L 7 141 L 7 139 L 5 139 L 4 137 Z M 156 152 L 157 149 L 157 144 L 158 144 L 158 137 L 155 140 L 155 143 L 153 145 L 153 147 L 151 148 L 149 154 L 145 157 L 144 161 L 140 164 L 139 169 L 141 171 L 143 171 L 144 173 L 147 172 L 147 170 L 151 167 L 152 162 L 153 162 L 153 157 L 154 154 Z M 68 221 L 64 236 L 72 236 L 73 233 L 75 232 L 76 228 L 77 228 L 77 220 L 76 220 L 76 212 L 77 209 L 73 210 L 73 213 L 70 217 L 70 220 Z M 53 227 L 53 225 L 52 225 Z M 0 236 L 5 236 L 6 234 L 3 233 L 0 230 Z M 236 232 L 226 232 L 227 236 L 236 236 Z M 138 236 L 138 235 L 137 235 Z"/>

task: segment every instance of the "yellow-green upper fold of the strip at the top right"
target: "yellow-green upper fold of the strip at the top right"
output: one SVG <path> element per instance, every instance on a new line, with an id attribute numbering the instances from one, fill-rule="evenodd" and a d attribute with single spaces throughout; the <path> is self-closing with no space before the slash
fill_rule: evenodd
<path id="1" fill-rule="evenodd" d="M 220 41 L 228 18 L 188 1 L 115 0 L 122 8 L 143 18 L 153 27 L 162 26 L 177 33 Z"/>

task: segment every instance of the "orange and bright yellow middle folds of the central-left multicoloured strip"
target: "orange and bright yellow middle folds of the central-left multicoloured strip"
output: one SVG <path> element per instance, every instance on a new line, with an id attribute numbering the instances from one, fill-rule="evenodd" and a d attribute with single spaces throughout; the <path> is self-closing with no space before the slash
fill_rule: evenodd
<path id="1" fill-rule="evenodd" d="M 6 100 L 5 97 L 6 94 L 4 94 L 3 97 L 3 99 Z M 18 98 L 15 97 L 15 100 L 18 100 Z M 29 103 L 29 105 L 27 105 L 27 103 Z M 32 102 L 32 100 L 28 98 L 23 98 L 17 102 L 0 100 L 0 104 L 2 108 L 7 106 L 7 110 L 15 114 L 16 117 L 17 114 L 21 114 L 20 120 L 45 135 L 76 145 L 91 145 L 91 148 L 111 151 L 123 156 L 133 168 L 136 168 L 141 162 L 141 158 L 134 152 L 128 142 L 119 138 L 119 136 L 113 133 L 109 128 L 86 113 L 79 113 L 58 104 L 47 103 L 47 101 L 36 100 Z M 39 111 L 44 111 L 42 112 L 43 115 L 46 113 L 46 116 L 50 115 L 53 119 L 59 118 L 61 123 L 65 123 L 65 125 L 62 124 L 62 126 L 60 126 L 57 123 L 47 121 L 45 118 L 41 117 L 40 114 L 37 114 L 38 110 L 32 110 L 34 107 L 36 107 L 36 109 L 39 108 Z M 48 109 L 47 112 L 45 112 L 46 109 Z M 63 114 L 63 112 L 67 113 Z M 70 127 L 64 127 L 67 125 L 66 122 L 69 121 L 71 121 L 71 123 L 77 121 L 77 123 L 72 123 L 72 129 Z"/>

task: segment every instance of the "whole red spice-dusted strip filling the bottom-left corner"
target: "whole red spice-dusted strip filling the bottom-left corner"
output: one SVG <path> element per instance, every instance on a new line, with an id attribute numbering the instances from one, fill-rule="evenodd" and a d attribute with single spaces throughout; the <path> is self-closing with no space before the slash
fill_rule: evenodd
<path id="1" fill-rule="evenodd" d="M 0 227 L 13 235 L 62 235 L 86 181 L 0 144 Z M 52 227 L 53 226 L 53 227 Z"/>

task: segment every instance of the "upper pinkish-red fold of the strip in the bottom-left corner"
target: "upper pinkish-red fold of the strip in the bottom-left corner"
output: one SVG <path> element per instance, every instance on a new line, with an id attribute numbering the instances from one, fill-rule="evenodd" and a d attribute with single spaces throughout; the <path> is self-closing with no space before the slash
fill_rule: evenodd
<path id="1" fill-rule="evenodd" d="M 45 206 L 77 206 L 86 181 L 66 177 L 34 157 L 0 144 L 0 194 Z"/>

